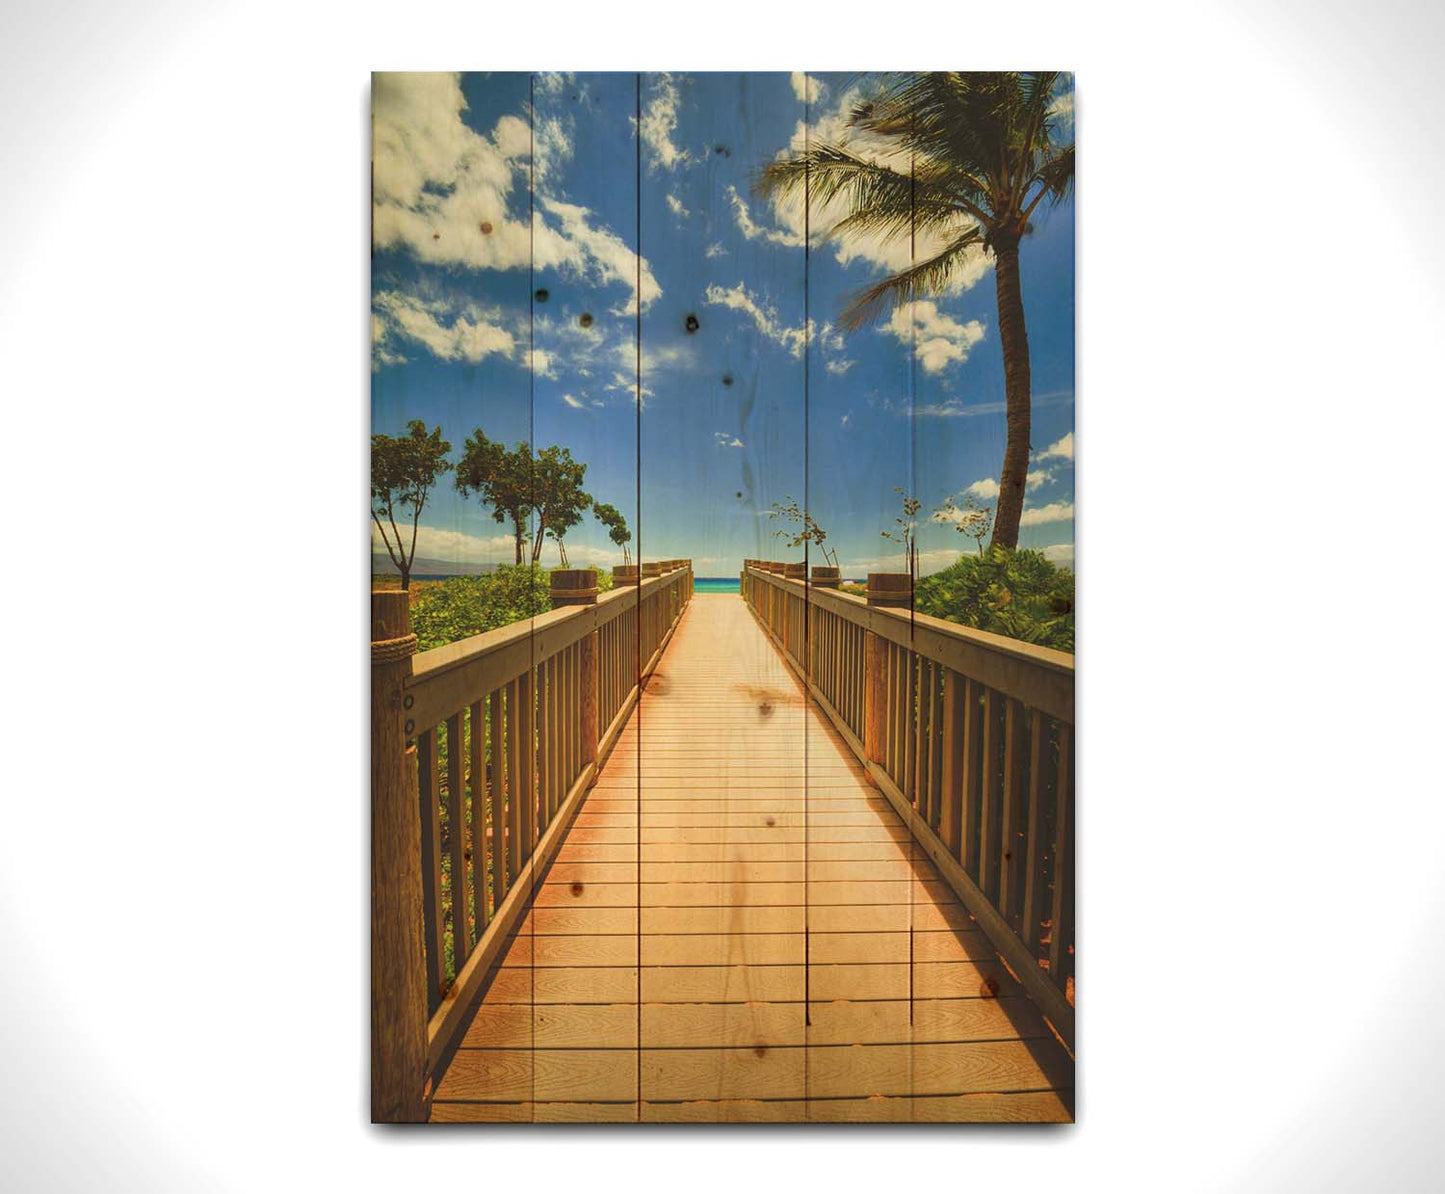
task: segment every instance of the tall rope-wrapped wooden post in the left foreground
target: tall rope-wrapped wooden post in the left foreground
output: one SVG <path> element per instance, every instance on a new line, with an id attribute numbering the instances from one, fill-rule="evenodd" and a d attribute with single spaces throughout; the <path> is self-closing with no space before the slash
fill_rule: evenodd
<path id="1" fill-rule="evenodd" d="M 416 636 L 409 594 L 371 594 L 371 1120 L 418 1123 L 426 1107 L 422 814 L 406 740 Z"/>

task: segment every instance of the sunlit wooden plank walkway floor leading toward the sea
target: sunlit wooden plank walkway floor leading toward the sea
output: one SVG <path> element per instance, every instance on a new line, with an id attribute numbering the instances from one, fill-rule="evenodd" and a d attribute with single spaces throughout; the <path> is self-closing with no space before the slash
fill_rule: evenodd
<path id="1" fill-rule="evenodd" d="M 1074 1062 L 736 596 L 692 598 L 434 1120 L 1069 1120 Z"/>

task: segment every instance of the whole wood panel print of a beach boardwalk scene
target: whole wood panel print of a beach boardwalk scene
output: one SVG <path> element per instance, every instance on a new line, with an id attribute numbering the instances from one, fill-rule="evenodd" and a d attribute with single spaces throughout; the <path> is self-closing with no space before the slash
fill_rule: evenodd
<path id="1" fill-rule="evenodd" d="M 373 77 L 374 1120 L 1072 1120 L 1072 113 Z"/>

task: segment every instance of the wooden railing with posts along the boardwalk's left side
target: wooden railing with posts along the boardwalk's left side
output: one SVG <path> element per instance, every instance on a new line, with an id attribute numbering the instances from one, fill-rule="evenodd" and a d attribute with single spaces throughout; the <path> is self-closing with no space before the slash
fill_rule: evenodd
<path id="1" fill-rule="evenodd" d="M 692 597 L 689 561 L 552 574 L 549 613 L 413 653 L 373 593 L 371 1116 L 432 1080 Z"/>

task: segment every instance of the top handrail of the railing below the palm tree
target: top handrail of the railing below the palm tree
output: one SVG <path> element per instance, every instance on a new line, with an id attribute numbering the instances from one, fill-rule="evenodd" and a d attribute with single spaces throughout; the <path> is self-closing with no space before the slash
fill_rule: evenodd
<path id="1" fill-rule="evenodd" d="M 806 590 L 811 604 L 1040 708 L 1051 717 L 1074 721 L 1074 656 L 1066 650 L 1019 642 L 925 613 L 870 606 L 851 593 L 811 585 L 776 572 L 749 568 L 747 574 L 785 593 L 801 594 Z"/>

